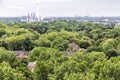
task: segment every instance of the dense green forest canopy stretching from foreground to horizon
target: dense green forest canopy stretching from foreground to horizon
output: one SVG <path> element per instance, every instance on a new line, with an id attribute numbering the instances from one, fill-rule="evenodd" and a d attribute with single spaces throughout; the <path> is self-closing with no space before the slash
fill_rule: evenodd
<path id="1" fill-rule="evenodd" d="M 0 80 L 120 80 L 119 42 L 114 24 L 0 23 Z"/>

